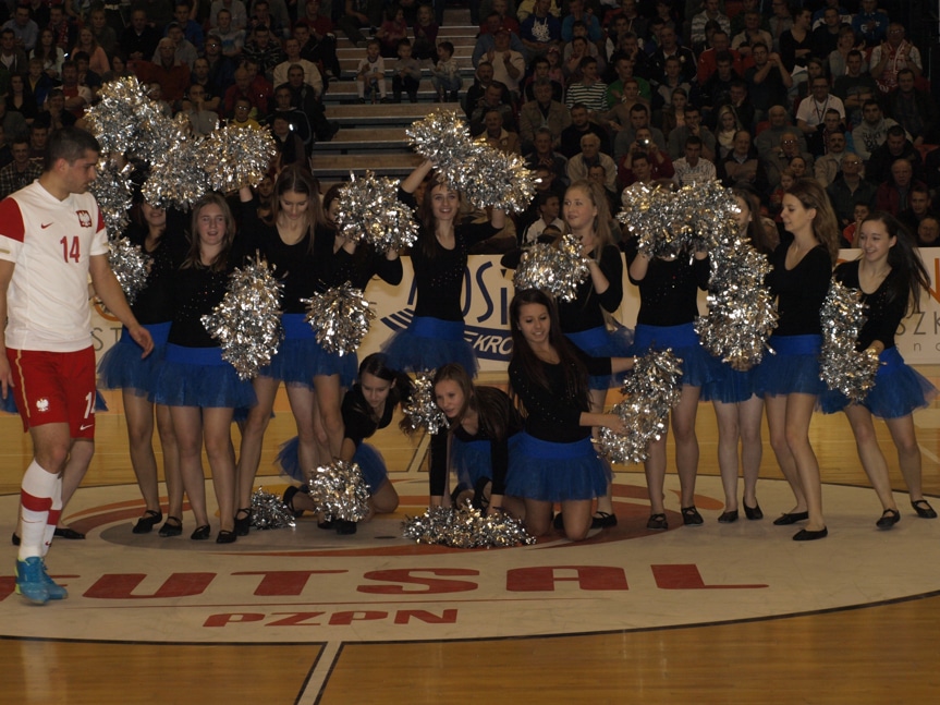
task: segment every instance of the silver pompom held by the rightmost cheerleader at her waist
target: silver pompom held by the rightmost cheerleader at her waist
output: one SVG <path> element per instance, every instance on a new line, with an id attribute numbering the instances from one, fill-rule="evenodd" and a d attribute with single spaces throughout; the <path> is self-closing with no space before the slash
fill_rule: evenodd
<path id="1" fill-rule="evenodd" d="M 833 280 L 819 317 L 822 321 L 819 377 L 829 389 L 839 390 L 850 402 L 859 403 L 875 386 L 880 366 L 874 351 L 855 349 L 865 325 L 862 292 Z"/>

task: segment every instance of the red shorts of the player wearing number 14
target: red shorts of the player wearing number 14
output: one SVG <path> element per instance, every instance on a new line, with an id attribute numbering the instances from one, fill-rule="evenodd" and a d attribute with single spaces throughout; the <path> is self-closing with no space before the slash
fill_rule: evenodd
<path id="1" fill-rule="evenodd" d="M 95 349 L 58 353 L 7 349 L 23 430 L 69 424 L 72 438 L 95 437 Z"/>

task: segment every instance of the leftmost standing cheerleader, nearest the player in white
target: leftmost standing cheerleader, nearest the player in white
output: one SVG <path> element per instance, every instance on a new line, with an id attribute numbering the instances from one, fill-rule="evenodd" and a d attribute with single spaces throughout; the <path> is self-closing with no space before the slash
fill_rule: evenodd
<path id="1" fill-rule="evenodd" d="M 163 521 L 158 491 L 157 459 L 154 455 L 154 382 L 167 350 L 167 337 L 173 311 L 170 305 L 170 280 L 174 263 L 182 259 L 186 246 L 184 227 L 174 222 L 168 231 L 167 210 L 142 203 L 137 211 L 141 221 L 127 230 L 126 238 L 139 245 L 151 264 L 144 289 L 137 294 L 131 309 L 137 320 L 150 331 L 154 352 L 141 358 L 141 349 L 121 329 L 121 338 L 101 358 L 98 365 L 98 385 L 103 389 L 121 389 L 124 416 L 127 422 L 127 440 L 131 449 L 131 466 L 137 477 L 137 486 L 144 498 L 144 515 L 131 530 L 135 534 L 148 534 Z M 170 409 L 156 405 L 157 434 L 163 452 L 163 476 L 167 481 L 169 512 L 160 527 L 160 536 L 179 536 L 183 531 L 183 483 L 180 476 L 180 454 Z"/>

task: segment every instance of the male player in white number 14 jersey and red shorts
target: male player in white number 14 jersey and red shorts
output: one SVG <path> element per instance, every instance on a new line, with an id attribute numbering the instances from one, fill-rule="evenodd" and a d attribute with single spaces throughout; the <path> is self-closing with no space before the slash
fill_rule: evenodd
<path id="1" fill-rule="evenodd" d="M 90 458 L 94 450 L 89 275 L 144 355 L 154 348 L 111 271 L 105 221 L 87 193 L 100 150 L 83 130 L 52 133 L 41 175 L 0 202 L 0 320 L 7 320 L 0 393 L 16 394 L 33 439 L 33 462 L 20 493 L 16 592 L 38 605 L 68 596 L 46 572 L 45 556 L 62 512 L 69 453 L 78 443 L 82 454 Z"/>

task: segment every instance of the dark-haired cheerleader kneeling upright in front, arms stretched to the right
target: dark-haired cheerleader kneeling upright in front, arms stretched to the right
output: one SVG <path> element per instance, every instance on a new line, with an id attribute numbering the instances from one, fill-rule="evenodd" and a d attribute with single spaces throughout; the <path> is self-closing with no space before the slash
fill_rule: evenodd
<path id="1" fill-rule="evenodd" d="M 590 440 L 591 426 L 627 433 L 620 416 L 590 411 L 588 375 L 632 369 L 633 358 L 583 353 L 562 335 L 554 302 L 536 289 L 513 297 L 510 330 L 510 385 L 526 417 L 505 491 L 523 498 L 534 536 L 551 528 L 552 503 L 559 501 L 565 535 L 582 540 L 591 526 L 593 500 L 607 491 L 609 481 L 609 467 Z"/>

